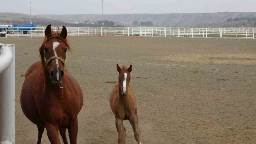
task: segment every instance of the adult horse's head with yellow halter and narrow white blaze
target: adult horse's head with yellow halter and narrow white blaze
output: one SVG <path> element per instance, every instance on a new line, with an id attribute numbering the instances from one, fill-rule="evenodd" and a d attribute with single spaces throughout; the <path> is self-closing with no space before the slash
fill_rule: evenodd
<path id="1" fill-rule="evenodd" d="M 45 38 L 39 49 L 43 68 L 50 74 L 53 84 L 61 84 L 65 71 L 66 52 L 70 50 L 66 39 L 68 33 L 63 26 L 61 33 L 54 32 L 51 25 L 45 29 Z"/>

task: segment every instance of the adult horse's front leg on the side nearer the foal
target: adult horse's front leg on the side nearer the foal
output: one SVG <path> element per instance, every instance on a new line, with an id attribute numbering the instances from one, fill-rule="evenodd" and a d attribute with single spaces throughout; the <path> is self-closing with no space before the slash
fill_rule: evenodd
<path id="1" fill-rule="evenodd" d="M 76 117 L 74 120 L 70 122 L 70 127 L 68 129 L 70 144 L 76 144 L 77 133 L 78 133 L 78 122 Z"/>

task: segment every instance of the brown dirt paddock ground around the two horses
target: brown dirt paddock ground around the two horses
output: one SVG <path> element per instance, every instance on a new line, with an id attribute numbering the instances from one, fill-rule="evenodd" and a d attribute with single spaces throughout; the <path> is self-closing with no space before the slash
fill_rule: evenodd
<path id="1" fill-rule="evenodd" d="M 78 144 L 115 144 L 109 95 L 119 66 L 132 64 L 144 144 L 256 143 L 256 40 L 69 36 L 67 69 L 84 94 Z M 1 38 L 16 45 L 16 143 L 38 131 L 20 107 L 27 68 L 39 60 L 42 37 Z M 109 83 L 115 82 L 115 83 Z M 136 143 L 129 121 L 126 142 Z M 46 130 L 43 144 L 49 144 Z"/>

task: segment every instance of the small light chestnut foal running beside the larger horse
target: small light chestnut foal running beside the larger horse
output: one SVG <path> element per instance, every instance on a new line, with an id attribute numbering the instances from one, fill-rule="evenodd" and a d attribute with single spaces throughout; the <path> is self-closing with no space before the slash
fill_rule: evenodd
<path id="1" fill-rule="evenodd" d="M 141 144 L 140 127 L 137 115 L 137 100 L 132 87 L 129 86 L 132 71 L 132 65 L 127 69 L 122 69 L 116 64 L 116 69 L 119 72 L 119 82 L 116 85 L 109 98 L 109 104 L 112 112 L 116 117 L 116 130 L 118 132 L 118 144 L 125 144 L 126 131 L 123 125 L 124 120 L 129 120 L 134 132 L 135 140 Z"/>

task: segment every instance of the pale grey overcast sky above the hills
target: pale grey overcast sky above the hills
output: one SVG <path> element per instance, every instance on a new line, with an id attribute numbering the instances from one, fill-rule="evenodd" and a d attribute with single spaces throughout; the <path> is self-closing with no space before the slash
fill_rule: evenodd
<path id="1" fill-rule="evenodd" d="M 2 0 L 1 0 L 2 1 Z M 8 0 L 0 12 L 102 14 L 101 0 Z M 104 14 L 256 12 L 256 0 L 105 0 Z"/>

